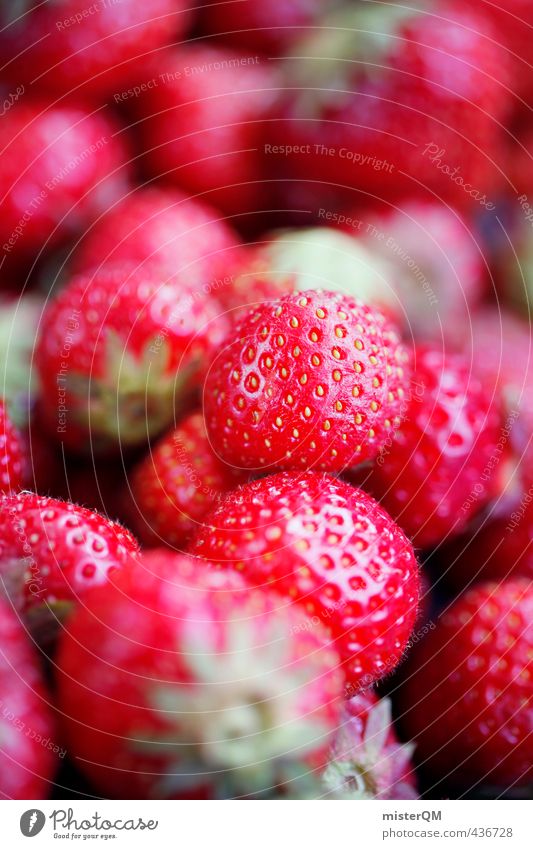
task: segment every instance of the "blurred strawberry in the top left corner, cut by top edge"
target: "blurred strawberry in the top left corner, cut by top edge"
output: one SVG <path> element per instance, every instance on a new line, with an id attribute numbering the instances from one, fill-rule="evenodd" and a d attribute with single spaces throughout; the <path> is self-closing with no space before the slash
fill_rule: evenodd
<path id="1" fill-rule="evenodd" d="M 189 9 L 185 0 L 19 0 L 0 16 L 3 73 L 54 95 L 116 92 L 141 81 L 151 51 L 182 38 Z"/>

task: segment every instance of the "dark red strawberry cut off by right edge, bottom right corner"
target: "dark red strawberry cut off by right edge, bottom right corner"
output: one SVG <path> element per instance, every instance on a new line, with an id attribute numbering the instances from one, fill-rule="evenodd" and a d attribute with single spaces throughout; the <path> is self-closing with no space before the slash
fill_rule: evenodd
<path id="1" fill-rule="evenodd" d="M 533 777 L 533 596 L 527 580 L 459 597 L 405 669 L 401 723 L 431 778 L 463 789 Z"/>

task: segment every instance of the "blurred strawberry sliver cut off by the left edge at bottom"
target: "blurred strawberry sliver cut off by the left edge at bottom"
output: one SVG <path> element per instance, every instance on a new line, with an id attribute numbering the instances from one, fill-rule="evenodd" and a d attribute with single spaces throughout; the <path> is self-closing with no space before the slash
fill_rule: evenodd
<path id="1" fill-rule="evenodd" d="M 0 798 L 46 799 L 60 747 L 37 657 L 4 602 L 0 602 L 0 693 Z"/>

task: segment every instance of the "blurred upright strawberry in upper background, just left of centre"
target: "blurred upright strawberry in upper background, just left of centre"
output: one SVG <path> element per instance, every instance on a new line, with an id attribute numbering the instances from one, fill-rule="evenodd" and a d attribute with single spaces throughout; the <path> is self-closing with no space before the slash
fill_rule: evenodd
<path id="1" fill-rule="evenodd" d="M 133 102 L 150 173 L 227 213 L 268 210 L 262 141 L 280 88 L 274 64 L 204 42 L 161 52 L 153 79 Z"/>

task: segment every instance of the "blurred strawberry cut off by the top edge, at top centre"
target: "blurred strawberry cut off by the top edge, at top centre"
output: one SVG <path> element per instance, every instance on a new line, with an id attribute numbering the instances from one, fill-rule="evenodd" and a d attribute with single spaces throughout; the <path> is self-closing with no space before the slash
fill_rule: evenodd
<path id="1" fill-rule="evenodd" d="M 232 0 L 202 7 L 203 29 L 240 47 L 270 53 L 289 47 L 305 27 L 316 25 L 327 0 Z"/>

